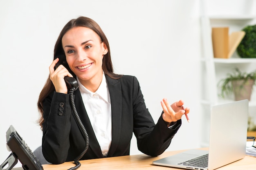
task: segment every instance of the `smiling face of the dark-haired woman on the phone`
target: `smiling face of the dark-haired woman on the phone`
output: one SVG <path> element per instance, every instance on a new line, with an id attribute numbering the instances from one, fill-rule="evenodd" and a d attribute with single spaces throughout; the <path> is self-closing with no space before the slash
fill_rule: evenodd
<path id="1" fill-rule="evenodd" d="M 62 38 L 66 60 L 81 82 L 102 78 L 102 59 L 108 52 L 97 33 L 79 26 L 67 31 Z"/>

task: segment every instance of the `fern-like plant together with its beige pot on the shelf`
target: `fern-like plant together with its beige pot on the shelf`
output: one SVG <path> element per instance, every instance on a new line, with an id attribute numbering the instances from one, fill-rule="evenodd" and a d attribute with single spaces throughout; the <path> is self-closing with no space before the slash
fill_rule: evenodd
<path id="1" fill-rule="evenodd" d="M 256 71 L 241 72 L 235 68 L 234 73 L 228 73 L 226 78 L 219 81 L 218 86 L 221 87 L 222 98 L 234 93 L 235 100 L 251 99 L 253 86 L 256 85 Z"/>

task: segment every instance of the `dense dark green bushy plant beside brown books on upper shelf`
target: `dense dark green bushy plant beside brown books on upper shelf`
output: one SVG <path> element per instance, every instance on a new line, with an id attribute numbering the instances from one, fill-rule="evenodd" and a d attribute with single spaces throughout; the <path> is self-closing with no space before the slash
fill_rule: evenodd
<path id="1" fill-rule="evenodd" d="M 237 53 L 242 58 L 256 58 L 256 25 L 243 28 L 245 37 L 237 47 Z"/>

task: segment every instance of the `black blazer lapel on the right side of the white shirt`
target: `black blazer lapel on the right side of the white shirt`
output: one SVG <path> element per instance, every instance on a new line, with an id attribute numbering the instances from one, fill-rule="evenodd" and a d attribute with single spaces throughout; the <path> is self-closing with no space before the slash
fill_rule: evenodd
<path id="1" fill-rule="evenodd" d="M 121 135 L 121 113 L 122 113 L 122 93 L 119 80 L 112 79 L 106 75 L 108 89 L 110 93 L 112 109 L 112 142 L 108 151 L 108 157 L 111 157 L 118 146 Z"/>

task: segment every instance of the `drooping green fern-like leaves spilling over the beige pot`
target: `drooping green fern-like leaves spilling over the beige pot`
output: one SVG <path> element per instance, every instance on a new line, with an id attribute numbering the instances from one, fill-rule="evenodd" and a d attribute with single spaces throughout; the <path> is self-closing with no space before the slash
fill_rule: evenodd
<path id="1" fill-rule="evenodd" d="M 219 81 L 218 86 L 221 87 L 220 96 L 224 98 L 233 92 L 232 81 L 243 80 L 243 83 L 240 85 L 240 88 L 243 88 L 243 85 L 250 79 L 254 80 L 254 85 L 256 85 L 256 71 L 247 73 L 241 72 L 238 68 L 235 68 L 235 71 L 232 74 L 228 73 L 226 78 Z"/>

